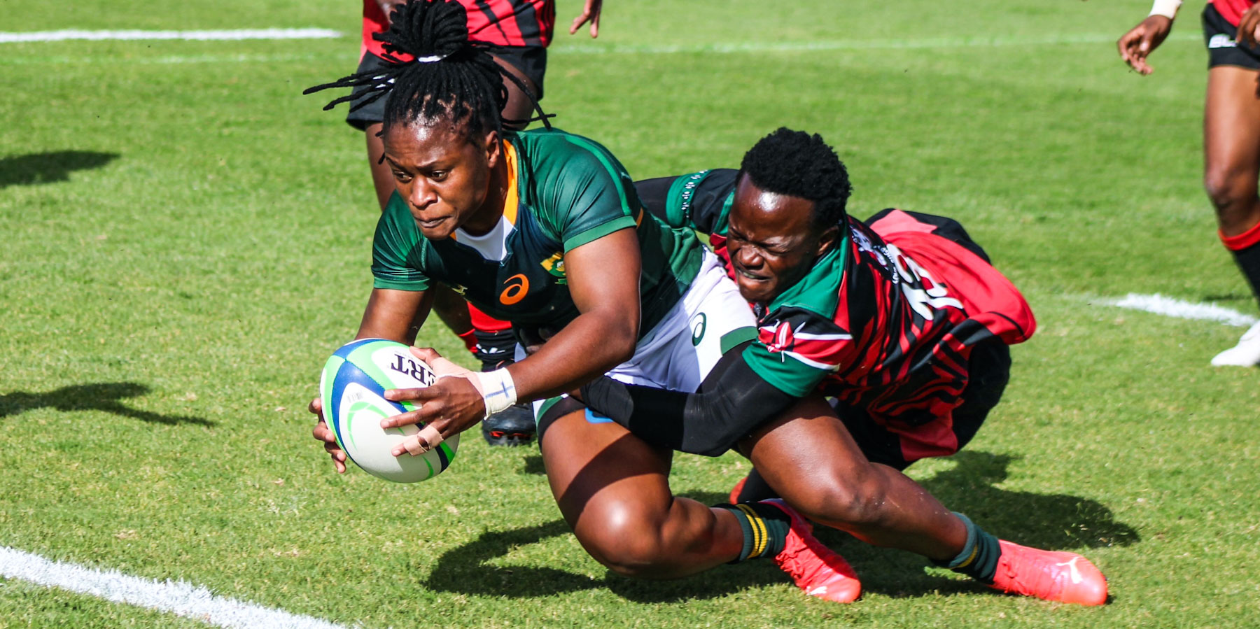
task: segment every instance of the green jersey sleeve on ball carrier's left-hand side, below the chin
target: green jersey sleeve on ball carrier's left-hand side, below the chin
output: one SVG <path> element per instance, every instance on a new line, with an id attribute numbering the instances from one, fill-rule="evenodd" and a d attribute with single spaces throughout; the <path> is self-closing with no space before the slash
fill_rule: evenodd
<path id="1" fill-rule="evenodd" d="M 372 238 L 372 286 L 375 289 L 427 290 L 423 270 L 427 242 L 398 193 L 389 198 Z"/>

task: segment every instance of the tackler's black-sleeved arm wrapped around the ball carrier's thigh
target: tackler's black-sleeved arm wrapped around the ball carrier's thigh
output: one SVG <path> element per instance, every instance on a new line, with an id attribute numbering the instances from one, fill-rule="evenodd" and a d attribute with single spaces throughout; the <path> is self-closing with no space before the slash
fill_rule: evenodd
<path id="1" fill-rule="evenodd" d="M 581 398 L 650 444 L 718 456 L 796 401 L 752 371 L 745 347 L 727 352 L 698 393 L 600 377 L 582 387 Z"/>

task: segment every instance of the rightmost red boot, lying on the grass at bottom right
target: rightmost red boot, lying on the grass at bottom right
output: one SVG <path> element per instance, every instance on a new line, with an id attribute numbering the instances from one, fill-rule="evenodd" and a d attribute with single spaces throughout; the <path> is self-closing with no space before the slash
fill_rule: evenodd
<path id="1" fill-rule="evenodd" d="M 1106 603 L 1106 577 L 1075 552 L 1029 548 L 998 540 L 1002 556 L 993 575 L 994 590 L 1077 605 Z"/>

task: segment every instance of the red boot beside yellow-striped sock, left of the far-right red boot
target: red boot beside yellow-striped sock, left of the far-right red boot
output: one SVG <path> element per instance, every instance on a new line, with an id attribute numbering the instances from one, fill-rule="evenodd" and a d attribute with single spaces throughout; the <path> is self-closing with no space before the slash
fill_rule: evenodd
<path id="1" fill-rule="evenodd" d="M 777 498 L 761 500 L 760 504 L 772 504 L 791 517 L 788 541 L 782 552 L 775 555 L 775 565 L 788 572 L 798 587 L 810 596 L 834 603 L 853 603 L 862 596 L 862 584 L 849 562 L 823 546 L 796 509 Z"/>

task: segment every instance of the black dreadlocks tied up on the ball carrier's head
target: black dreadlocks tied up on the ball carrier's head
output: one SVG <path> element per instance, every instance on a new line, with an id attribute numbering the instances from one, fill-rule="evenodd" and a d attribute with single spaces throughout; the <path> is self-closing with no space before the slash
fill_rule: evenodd
<path id="1" fill-rule="evenodd" d="M 372 37 L 383 44 L 388 62 L 383 71 L 359 72 L 309 87 L 302 93 L 352 88 L 350 95 L 325 105 L 325 111 L 355 101 L 350 105 L 354 111 L 388 97 L 382 121 L 386 129 L 411 121 L 433 126 L 444 118 L 452 127 L 462 127 L 470 137 L 488 130 L 501 131 L 505 122 L 524 126 L 538 120 L 551 129 L 547 120 L 551 115 L 543 113 L 524 82 L 495 63 L 486 44 L 469 40 L 467 11 L 459 3 L 411 0 L 391 14 L 389 30 Z M 528 120 L 501 117 L 508 102 L 504 79 L 520 88 L 538 116 Z"/>

